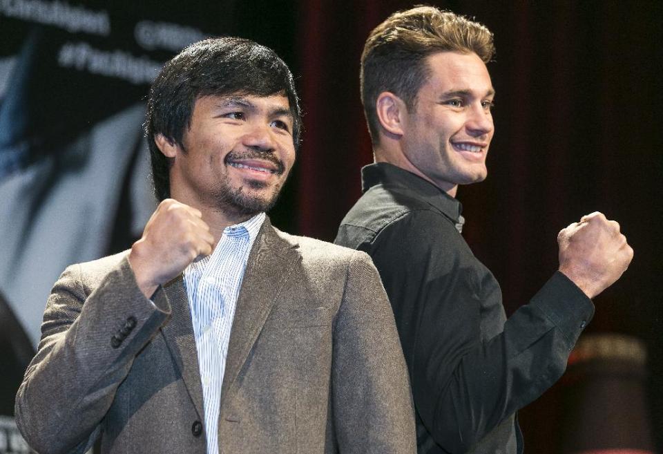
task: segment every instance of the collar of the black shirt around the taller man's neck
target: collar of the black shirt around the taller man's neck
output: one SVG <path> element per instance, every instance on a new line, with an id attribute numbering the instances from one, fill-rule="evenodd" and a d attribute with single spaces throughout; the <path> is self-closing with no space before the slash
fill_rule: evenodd
<path id="1" fill-rule="evenodd" d="M 387 162 L 376 162 L 363 167 L 361 169 L 362 192 L 366 192 L 376 185 L 396 187 L 406 192 L 415 193 L 416 198 L 424 200 L 441 211 L 444 216 L 450 218 L 458 231 L 463 228 L 465 218 L 461 216 L 463 211 L 461 202 L 412 172 Z"/>

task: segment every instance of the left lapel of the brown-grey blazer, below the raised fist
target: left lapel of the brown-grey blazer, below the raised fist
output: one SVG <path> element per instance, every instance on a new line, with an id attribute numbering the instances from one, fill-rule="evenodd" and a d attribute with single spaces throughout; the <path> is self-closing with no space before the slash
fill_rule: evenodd
<path id="1" fill-rule="evenodd" d="M 164 292 L 171 304 L 172 315 L 168 323 L 162 328 L 166 344 L 171 355 L 182 371 L 182 381 L 189 391 L 191 400 L 202 418 L 202 384 L 200 382 L 200 369 L 198 368 L 198 352 L 195 348 L 193 323 L 189 311 L 189 299 L 186 296 L 182 276 L 164 286 Z"/>

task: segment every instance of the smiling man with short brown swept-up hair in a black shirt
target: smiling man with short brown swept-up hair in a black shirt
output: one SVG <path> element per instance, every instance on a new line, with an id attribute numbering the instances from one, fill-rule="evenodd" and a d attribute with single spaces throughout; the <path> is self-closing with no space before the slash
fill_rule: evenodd
<path id="1" fill-rule="evenodd" d="M 506 320 L 461 236 L 459 185 L 486 178 L 492 34 L 452 12 L 397 12 L 369 35 L 361 87 L 376 163 L 336 243 L 367 252 L 410 372 L 419 453 L 521 453 L 515 413 L 555 383 L 593 298 L 633 257 L 599 213 L 559 232 L 559 270 Z"/>

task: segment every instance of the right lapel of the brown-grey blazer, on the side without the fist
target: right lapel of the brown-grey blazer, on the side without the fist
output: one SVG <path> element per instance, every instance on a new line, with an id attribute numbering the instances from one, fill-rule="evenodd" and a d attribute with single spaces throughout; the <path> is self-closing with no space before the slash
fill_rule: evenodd
<path id="1" fill-rule="evenodd" d="M 253 343 L 287 281 L 293 266 L 301 259 L 297 245 L 276 234 L 265 218 L 253 245 L 242 288 L 237 300 L 221 387 L 221 405 L 246 361 Z"/>

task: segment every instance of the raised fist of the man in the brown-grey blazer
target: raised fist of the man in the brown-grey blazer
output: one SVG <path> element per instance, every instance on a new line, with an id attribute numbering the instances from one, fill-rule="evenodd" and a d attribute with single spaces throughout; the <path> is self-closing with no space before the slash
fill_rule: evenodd
<path id="1" fill-rule="evenodd" d="M 195 258 L 211 254 L 214 243 L 200 211 L 171 198 L 163 200 L 129 253 L 141 292 L 150 298 L 159 285 L 179 276 Z"/>

